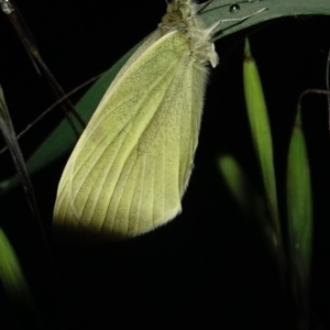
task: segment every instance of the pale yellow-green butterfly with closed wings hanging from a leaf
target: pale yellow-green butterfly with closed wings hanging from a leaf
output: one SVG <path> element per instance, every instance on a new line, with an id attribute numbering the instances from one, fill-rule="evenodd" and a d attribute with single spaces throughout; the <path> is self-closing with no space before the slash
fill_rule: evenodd
<path id="1" fill-rule="evenodd" d="M 208 76 L 219 59 L 193 0 L 174 0 L 122 67 L 62 175 L 59 232 L 129 238 L 182 211 Z"/>

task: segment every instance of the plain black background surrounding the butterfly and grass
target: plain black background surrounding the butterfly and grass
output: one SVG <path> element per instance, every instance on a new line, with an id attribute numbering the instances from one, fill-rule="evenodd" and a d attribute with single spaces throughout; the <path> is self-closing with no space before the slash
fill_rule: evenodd
<path id="1" fill-rule="evenodd" d="M 156 29 L 165 12 L 163 0 L 16 3 L 65 91 L 111 67 Z M 297 98 L 307 88 L 326 87 L 330 21 L 327 16 L 285 18 L 257 28 L 244 33 L 251 36 L 270 110 L 283 206 L 286 153 Z M 36 75 L 4 14 L 0 14 L 0 84 L 20 132 L 54 102 L 54 97 Z M 103 246 L 57 244 L 52 239 L 51 219 L 66 162 L 63 158 L 33 177 L 50 257 L 22 189 L 2 199 L 0 226 L 20 257 L 44 329 L 289 327 L 290 311 L 276 265 L 254 219 L 241 213 L 217 168 L 218 156 L 231 152 L 256 187 L 261 186 L 243 99 L 245 34 L 216 43 L 221 63 L 209 78 L 196 166 L 183 200 L 184 212 L 175 221 L 128 242 Z M 21 140 L 26 158 L 62 118 L 55 110 Z M 315 194 L 314 317 L 330 328 L 326 97 L 305 99 L 304 120 Z M 1 179 L 14 172 L 8 154 L 0 155 L 0 164 Z M 2 292 L 0 297 L 4 311 L 0 309 L 0 315 L 11 324 L 6 329 L 25 329 L 33 323 Z"/>

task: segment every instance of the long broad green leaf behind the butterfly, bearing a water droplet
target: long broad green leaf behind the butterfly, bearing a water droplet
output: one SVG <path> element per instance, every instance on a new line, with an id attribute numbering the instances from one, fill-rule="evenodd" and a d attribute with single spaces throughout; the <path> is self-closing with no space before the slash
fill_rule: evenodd
<path id="1" fill-rule="evenodd" d="M 216 40 L 221 38 L 226 35 L 232 34 L 240 30 L 255 25 L 261 22 L 270 21 L 275 18 L 288 16 L 288 15 L 307 15 L 307 14 L 330 14 L 330 1 L 328 0 L 276 0 L 276 1 L 243 1 L 238 2 L 240 10 L 237 13 L 230 12 L 230 6 L 233 4 L 230 0 L 215 0 L 209 6 L 200 4 L 199 8 L 204 8 L 201 18 L 207 26 L 216 24 L 220 20 L 238 19 L 249 14 L 252 14 L 262 8 L 267 8 L 266 11 L 253 15 L 243 22 L 223 22 L 220 24 L 220 32 L 217 34 Z M 164 7 L 165 10 L 165 7 Z M 161 18 L 160 18 L 161 20 Z M 118 61 L 105 75 L 97 81 L 89 91 L 81 98 L 77 105 L 77 111 L 81 117 L 88 121 L 94 113 L 98 102 L 108 89 L 112 79 L 120 70 L 122 65 L 135 51 L 133 47 L 128 54 L 125 54 L 120 61 Z M 77 138 L 73 132 L 73 129 L 64 120 L 53 133 L 44 141 L 36 152 L 28 161 L 28 169 L 30 173 L 40 170 L 47 166 L 54 160 L 67 154 L 75 145 Z M 18 180 L 15 177 L 8 179 L 0 184 L 0 189 L 7 190 L 16 185 Z"/>

